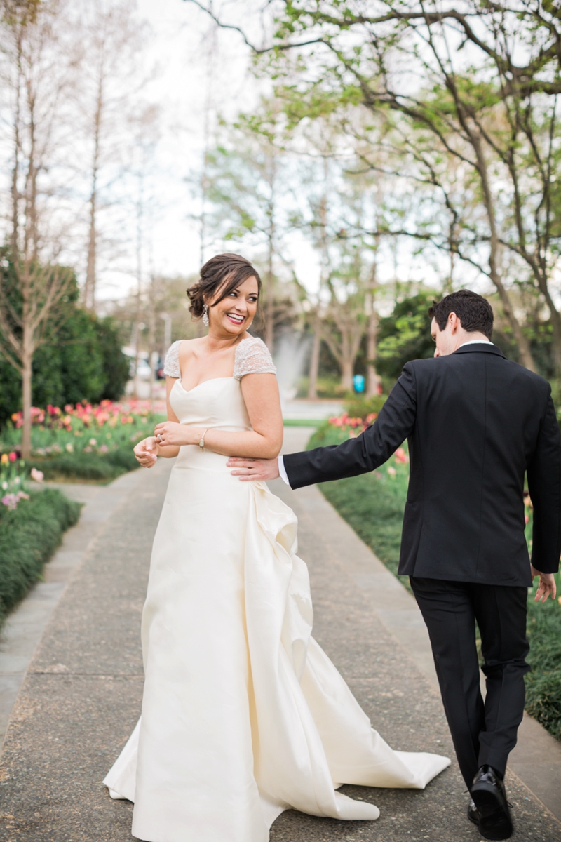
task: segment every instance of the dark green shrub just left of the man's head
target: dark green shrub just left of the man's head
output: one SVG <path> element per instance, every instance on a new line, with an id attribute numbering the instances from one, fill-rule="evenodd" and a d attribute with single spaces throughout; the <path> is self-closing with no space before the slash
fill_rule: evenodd
<path id="1" fill-rule="evenodd" d="M 424 291 L 398 301 L 391 316 L 381 318 L 378 325 L 378 374 L 397 380 L 409 360 L 419 360 L 434 354 L 431 339 L 431 318 L 428 308 L 442 294 Z"/>

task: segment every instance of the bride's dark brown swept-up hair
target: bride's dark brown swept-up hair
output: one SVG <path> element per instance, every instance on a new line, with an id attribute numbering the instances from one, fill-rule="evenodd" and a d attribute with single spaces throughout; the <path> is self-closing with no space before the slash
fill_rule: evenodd
<path id="1" fill-rule="evenodd" d="M 196 284 L 190 286 L 187 295 L 191 304 L 189 312 L 193 318 L 201 318 L 204 312 L 204 305 L 209 304 L 219 293 L 214 304 L 225 299 L 232 290 L 243 284 L 248 278 L 257 280 L 258 294 L 261 295 L 261 278 L 249 260 L 242 258 L 241 254 L 217 254 L 204 264 L 200 272 L 200 278 Z"/>

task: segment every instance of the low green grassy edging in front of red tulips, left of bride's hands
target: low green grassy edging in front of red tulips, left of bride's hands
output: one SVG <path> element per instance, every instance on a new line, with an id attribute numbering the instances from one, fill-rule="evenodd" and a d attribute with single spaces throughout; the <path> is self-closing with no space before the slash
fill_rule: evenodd
<path id="1" fill-rule="evenodd" d="M 61 453 L 43 459 L 31 459 L 29 468 L 42 471 L 46 480 L 89 479 L 110 482 L 128 471 L 139 467 L 132 450 L 133 445 L 109 450 L 108 453 Z"/>

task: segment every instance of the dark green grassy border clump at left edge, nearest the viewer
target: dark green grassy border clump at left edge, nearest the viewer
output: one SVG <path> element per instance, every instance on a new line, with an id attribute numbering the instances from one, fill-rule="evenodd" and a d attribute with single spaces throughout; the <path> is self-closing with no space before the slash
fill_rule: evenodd
<path id="1" fill-rule="evenodd" d="M 80 504 L 54 488 L 0 513 L 0 622 L 37 581 L 43 565 L 77 523 Z"/>

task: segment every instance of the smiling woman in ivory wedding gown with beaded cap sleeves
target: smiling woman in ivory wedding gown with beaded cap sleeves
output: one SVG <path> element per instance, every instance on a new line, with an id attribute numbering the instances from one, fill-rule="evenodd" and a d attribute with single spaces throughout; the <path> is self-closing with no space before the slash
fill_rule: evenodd
<path id="1" fill-rule="evenodd" d="M 283 441 L 275 367 L 247 329 L 261 280 L 219 254 L 188 290 L 204 338 L 172 344 L 167 422 L 135 447 L 177 461 L 156 530 L 142 616 L 142 716 L 105 778 L 135 802 L 149 842 L 266 842 L 290 807 L 378 818 L 341 784 L 422 789 L 449 764 L 393 751 L 310 636 L 297 521 L 227 456 L 272 458 Z"/>

